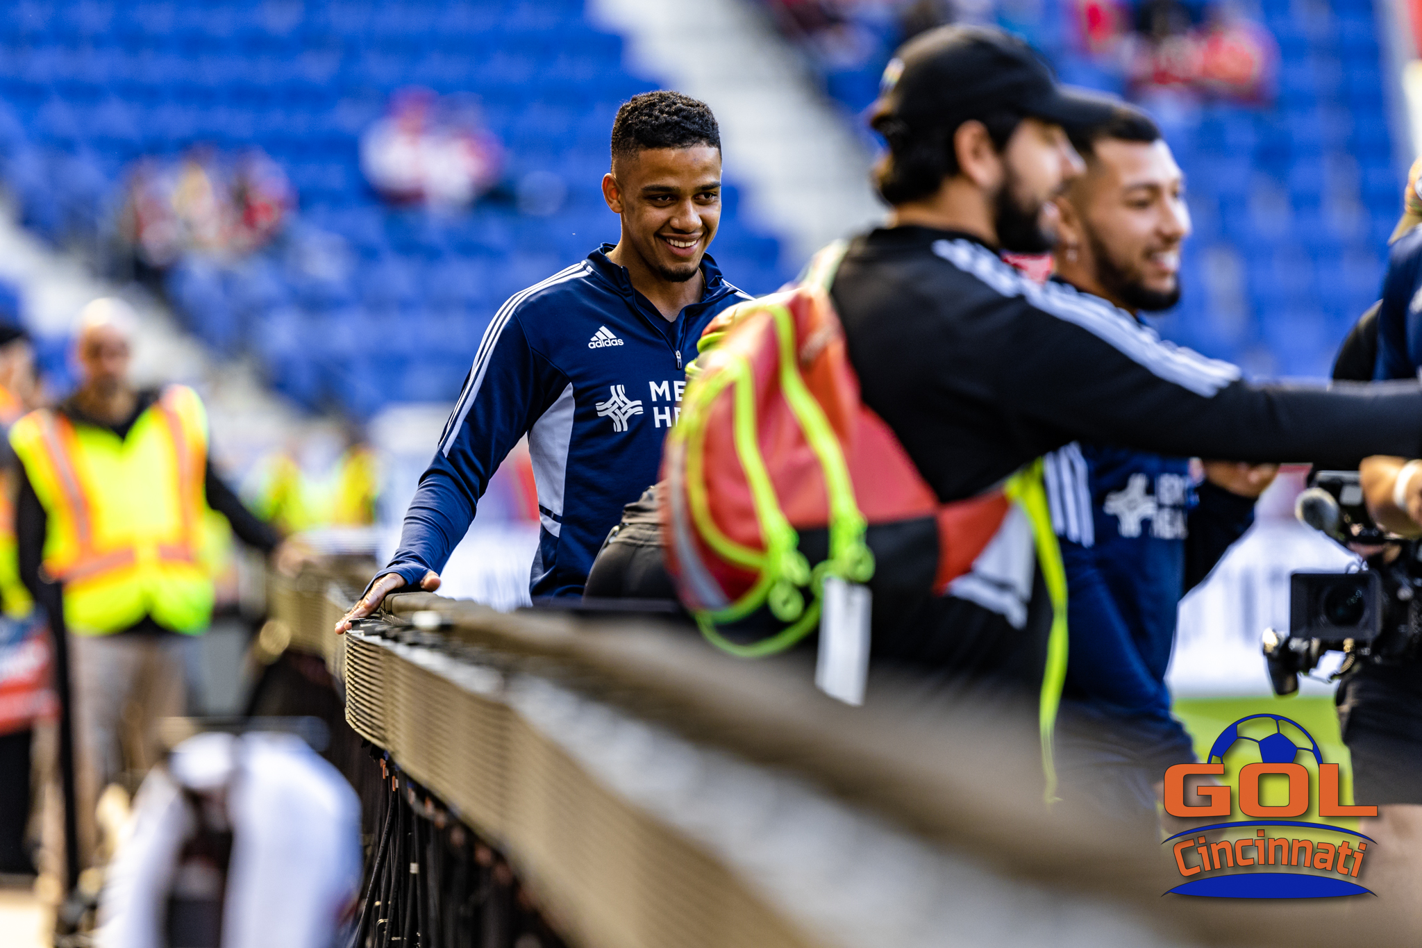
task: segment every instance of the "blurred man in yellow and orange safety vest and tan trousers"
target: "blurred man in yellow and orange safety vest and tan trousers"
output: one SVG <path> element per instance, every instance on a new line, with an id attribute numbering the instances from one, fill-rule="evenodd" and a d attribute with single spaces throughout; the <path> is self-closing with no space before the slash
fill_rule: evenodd
<path id="1" fill-rule="evenodd" d="M 183 651 L 213 604 L 201 561 L 206 507 L 263 553 L 279 544 L 212 469 L 198 394 L 129 381 L 132 318 L 119 300 L 90 303 L 75 338 L 78 389 L 10 431 L 20 577 L 68 632 L 85 863 L 100 790 L 131 787 L 158 758 L 158 719 L 185 711 Z"/>

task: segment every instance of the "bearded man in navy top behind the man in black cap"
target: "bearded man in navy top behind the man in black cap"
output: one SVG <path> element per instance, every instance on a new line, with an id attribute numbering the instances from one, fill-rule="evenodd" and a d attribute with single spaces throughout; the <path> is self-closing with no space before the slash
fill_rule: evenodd
<path id="1" fill-rule="evenodd" d="M 1057 276 L 1136 320 L 1180 300 L 1190 235 L 1185 175 L 1149 115 L 1116 107 L 1072 128 L 1086 173 L 1057 200 Z M 1180 597 L 1254 522 L 1276 465 L 1072 442 L 1047 456 L 1047 493 L 1066 567 L 1069 657 L 1057 735 L 1071 807 L 1155 833 L 1166 767 L 1194 760 L 1170 715 L 1166 667 Z"/>

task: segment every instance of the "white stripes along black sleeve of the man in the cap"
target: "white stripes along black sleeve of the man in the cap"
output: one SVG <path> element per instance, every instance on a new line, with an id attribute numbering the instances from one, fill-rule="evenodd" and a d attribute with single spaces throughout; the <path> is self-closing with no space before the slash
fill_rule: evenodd
<path id="1" fill-rule="evenodd" d="M 1240 378 L 1240 370 L 1220 360 L 1166 343 L 1128 313 L 1059 283 L 1038 284 L 971 240 L 934 240 L 933 252 L 1003 296 L 1020 296 L 1038 310 L 1086 330 L 1152 374 L 1196 395 L 1210 398 Z"/>

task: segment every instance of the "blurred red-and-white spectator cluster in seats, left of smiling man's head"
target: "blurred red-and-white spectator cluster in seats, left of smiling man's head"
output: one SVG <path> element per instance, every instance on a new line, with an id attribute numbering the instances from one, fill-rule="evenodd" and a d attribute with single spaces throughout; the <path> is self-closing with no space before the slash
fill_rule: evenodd
<path id="1" fill-rule="evenodd" d="M 499 182 L 503 149 L 471 102 L 408 88 L 361 135 L 360 163 L 392 203 L 464 208 Z"/>

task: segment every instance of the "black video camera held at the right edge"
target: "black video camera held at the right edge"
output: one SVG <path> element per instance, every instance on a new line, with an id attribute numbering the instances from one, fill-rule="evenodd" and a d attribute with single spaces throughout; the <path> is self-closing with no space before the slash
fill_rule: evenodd
<path id="1" fill-rule="evenodd" d="M 1382 530 L 1368 515 L 1357 470 L 1321 470 L 1294 506 L 1301 522 L 1352 551 L 1378 547 L 1355 573 L 1293 573 L 1288 631 L 1264 630 L 1264 659 L 1277 695 L 1324 652 L 1344 652 L 1337 679 L 1359 661 L 1415 657 L 1422 642 L 1422 543 Z"/>

